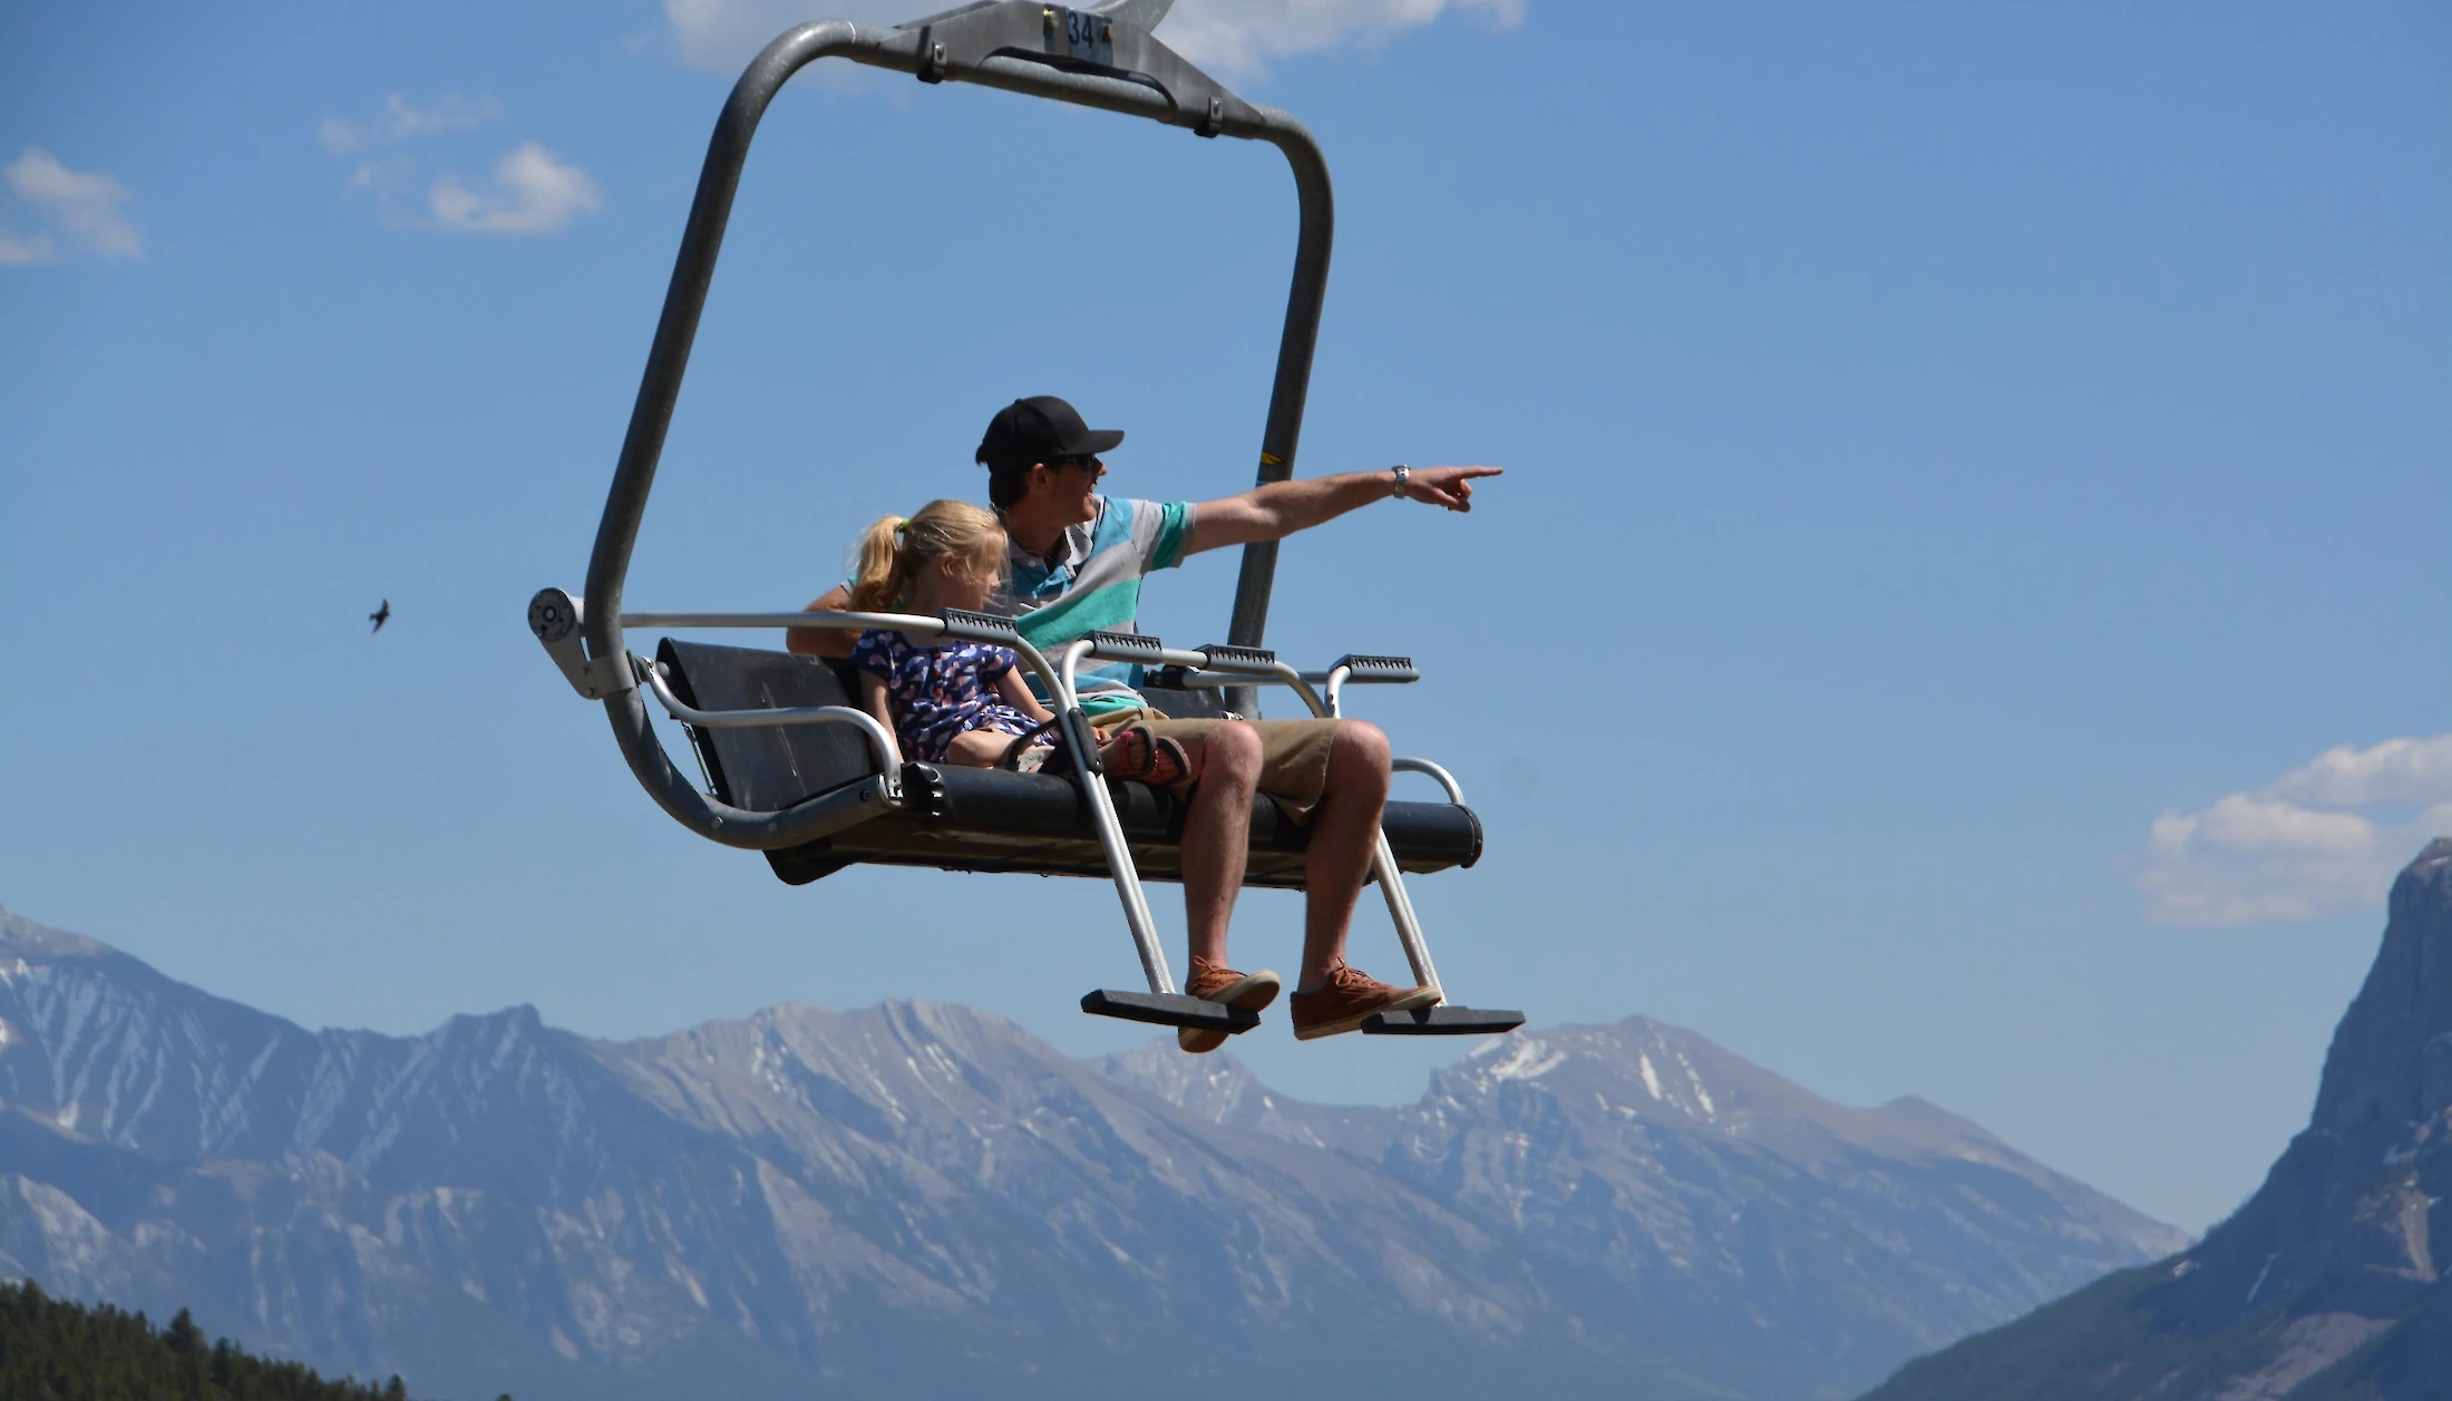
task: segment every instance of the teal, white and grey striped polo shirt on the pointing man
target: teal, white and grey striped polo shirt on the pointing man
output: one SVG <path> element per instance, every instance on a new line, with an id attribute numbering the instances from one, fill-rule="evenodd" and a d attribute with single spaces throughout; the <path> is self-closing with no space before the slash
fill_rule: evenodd
<path id="1" fill-rule="evenodd" d="M 1098 518 L 1064 530 L 1057 547 L 1032 555 L 1005 542 L 1005 582 L 988 601 L 991 613 L 1013 626 L 1042 653 L 1081 633 L 1133 633 L 1140 613 L 1140 579 L 1152 569 L 1184 562 L 1192 535 L 1189 501 L 1098 498 Z M 1027 667 L 1025 667 L 1027 670 Z M 1089 667 L 1079 677 L 1081 709 L 1101 714 L 1140 704 L 1140 667 L 1128 662 Z M 1030 687 L 1047 699 L 1037 677 Z"/>

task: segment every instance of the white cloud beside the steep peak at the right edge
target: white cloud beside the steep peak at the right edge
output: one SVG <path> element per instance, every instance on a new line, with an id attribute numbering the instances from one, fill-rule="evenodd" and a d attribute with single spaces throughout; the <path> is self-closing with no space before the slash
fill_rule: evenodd
<path id="1" fill-rule="evenodd" d="M 2452 734 L 2339 746 L 2253 793 L 2155 817 L 2138 888 L 2175 925 L 2307 920 L 2378 903 L 2447 832 Z"/>

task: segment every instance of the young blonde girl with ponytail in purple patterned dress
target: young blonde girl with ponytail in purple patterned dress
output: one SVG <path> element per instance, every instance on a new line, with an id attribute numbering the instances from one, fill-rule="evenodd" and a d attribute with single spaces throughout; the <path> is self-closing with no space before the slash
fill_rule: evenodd
<path id="1" fill-rule="evenodd" d="M 851 582 L 856 613 L 983 611 L 1005 569 L 1005 528 L 969 501 L 929 501 L 910 518 L 883 518 L 861 535 Z M 1018 670 L 1013 648 L 993 643 L 917 645 L 870 628 L 851 645 L 861 707 L 885 721 L 905 761 L 996 768 L 1015 739 L 1049 716 Z M 1040 731 L 1020 756 L 1035 770 L 1049 753 Z M 1192 775 L 1184 748 L 1128 726 L 1101 746 L 1113 778 L 1177 783 Z"/>

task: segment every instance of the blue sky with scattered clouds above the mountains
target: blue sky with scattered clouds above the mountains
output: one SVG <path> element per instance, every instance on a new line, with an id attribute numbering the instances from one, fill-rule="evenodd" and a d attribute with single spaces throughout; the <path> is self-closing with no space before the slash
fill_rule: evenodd
<path id="1" fill-rule="evenodd" d="M 0 903 L 306 1023 L 915 996 L 1135 1038 L 1074 1011 L 1135 974 L 1101 886 L 785 888 L 655 812 L 522 631 L 579 589 L 716 108 L 790 17 L 0 15 Z M 1160 34 L 1336 177 L 1300 469 L 1510 469 L 1290 542 L 1270 623 L 1430 677 L 1363 714 L 1488 824 L 1415 886 L 1452 991 L 1925 1094 L 2192 1229 L 2244 1197 L 2452 824 L 2442 10 Z M 804 76 L 633 606 L 797 606 L 861 523 L 976 496 L 1020 393 L 1125 427 L 1118 491 L 1246 486 L 1290 253 L 1268 147 Z M 1199 557 L 1145 626 L 1221 638 L 1231 589 Z M 1297 918 L 1246 898 L 1238 962 L 1290 967 Z M 1356 962 L 1400 967 L 1371 910 Z M 1461 1050 L 1236 1048 L 1314 1099 Z"/>

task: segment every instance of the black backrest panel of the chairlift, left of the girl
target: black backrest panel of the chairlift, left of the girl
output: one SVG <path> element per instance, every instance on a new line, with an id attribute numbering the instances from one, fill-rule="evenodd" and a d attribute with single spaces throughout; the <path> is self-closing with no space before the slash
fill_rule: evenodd
<path id="1" fill-rule="evenodd" d="M 718 648 L 664 638 L 655 660 L 696 709 L 858 704 L 851 662 L 763 648 Z M 868 743 L 843 724 L 755 724 L 689 731 L 716 797 L 750 812 L 780 812 L 875 773 Z"/>

